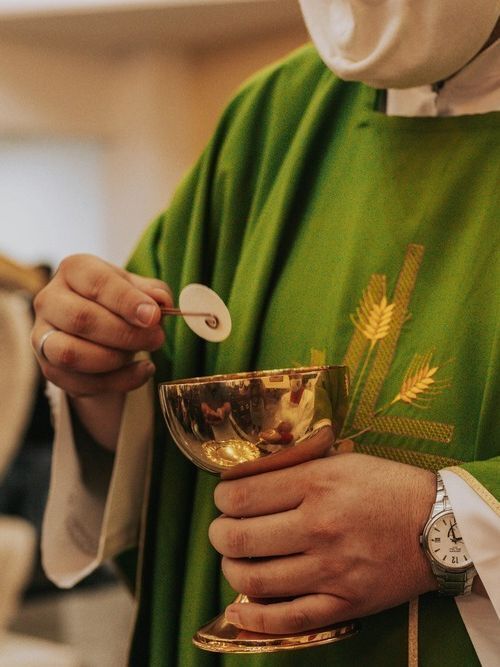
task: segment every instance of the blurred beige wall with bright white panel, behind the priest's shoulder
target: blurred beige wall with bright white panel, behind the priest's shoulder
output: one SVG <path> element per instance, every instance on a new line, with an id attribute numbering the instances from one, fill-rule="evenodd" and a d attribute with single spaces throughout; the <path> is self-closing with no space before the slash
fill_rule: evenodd
<path id="1" fill-rule="evenodd" d="M 234 89 L 305 39 L 296 0 L 0 1 L 0 251 L 123 262 Z"/>

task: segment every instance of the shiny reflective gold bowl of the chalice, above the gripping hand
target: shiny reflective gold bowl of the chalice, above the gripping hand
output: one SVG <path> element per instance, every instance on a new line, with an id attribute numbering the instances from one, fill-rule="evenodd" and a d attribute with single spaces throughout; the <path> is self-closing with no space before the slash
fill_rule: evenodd
<path id="1" fill-rule="evenodd" d="M 342 427 L 347 369 L 313 366 L 164 382 L 173 439 L 197 466 L 219 473 L 300 444 L 318 425 Z"/>

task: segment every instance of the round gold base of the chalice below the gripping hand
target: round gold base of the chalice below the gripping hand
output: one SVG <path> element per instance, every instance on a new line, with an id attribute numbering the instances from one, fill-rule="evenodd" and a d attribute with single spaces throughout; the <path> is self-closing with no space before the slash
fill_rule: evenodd
<path id="1" fill-rule="evenodd" d="M 247 599 L 239 596 L 238 601 L 244 603 Z M 198 630 L 193 644 L 212 653 L 274 653 L 332 644 L 352 637 L 358 631 L 357 621 L 346 621 L 303 633 L 267 635 L 237 628 L 226 621 L 224 614 L 220 614 Z"/>

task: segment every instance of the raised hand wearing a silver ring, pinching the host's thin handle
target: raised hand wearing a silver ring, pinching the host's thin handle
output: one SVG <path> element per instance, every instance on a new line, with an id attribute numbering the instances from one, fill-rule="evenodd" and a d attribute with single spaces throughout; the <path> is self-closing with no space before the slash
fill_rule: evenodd
<path id="1" fill-rule="evenodd" d="M 32 344 L 45 377 L 73 398 L 98 442 L 113 448 L 123 398 L 151 377 L 154 366 L 133 361 L 164 340 L 158 304 L 172 305 L 168 286 L 92 255 L 65 259 L 35 298 Z"/>

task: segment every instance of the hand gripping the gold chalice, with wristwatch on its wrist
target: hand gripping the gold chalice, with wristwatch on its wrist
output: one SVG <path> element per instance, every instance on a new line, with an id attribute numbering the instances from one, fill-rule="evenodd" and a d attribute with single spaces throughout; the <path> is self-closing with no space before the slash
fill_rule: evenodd
<path id="1" fill-rule="evenodd" d="M 435 589 L 419 544 L 435 490 L 433 473 L 363 454 L 221 482 L 210 540 L 231 586 L 264 599 L 231 605 L 228 620 L 300 632 Z"/>

